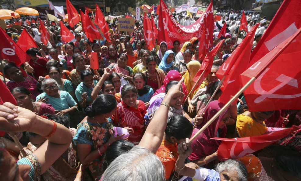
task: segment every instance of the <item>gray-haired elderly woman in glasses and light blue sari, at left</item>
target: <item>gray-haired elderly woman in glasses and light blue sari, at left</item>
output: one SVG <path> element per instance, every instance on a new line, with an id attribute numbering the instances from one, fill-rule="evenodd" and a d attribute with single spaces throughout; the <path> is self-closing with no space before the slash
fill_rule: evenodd
<path id="1" fill-rule="evenodd" d="M 36 101 L 41 99 L 55 109 L 56 115 L 64 115 L 70 119 L 69 114 L 77 110 L 77 103 L 69 92 L 58 90 L 58 83 L 52 78 L 42 82 L 42 90 L 44 92 L 37 96 Z"/>

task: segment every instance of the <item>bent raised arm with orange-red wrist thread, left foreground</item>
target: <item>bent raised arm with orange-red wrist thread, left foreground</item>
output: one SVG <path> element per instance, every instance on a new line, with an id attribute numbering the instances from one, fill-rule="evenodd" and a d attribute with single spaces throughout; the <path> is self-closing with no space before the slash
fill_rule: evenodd
<path id="1" fill-rule="evenodd" d="M 41 174 L 67 150 L 72 139 L 65 126 L 9 102 L 0 105 L 0 130 L 29 131 L 46 137 L 47 141 L 33 153 L 41 164 Z"/>

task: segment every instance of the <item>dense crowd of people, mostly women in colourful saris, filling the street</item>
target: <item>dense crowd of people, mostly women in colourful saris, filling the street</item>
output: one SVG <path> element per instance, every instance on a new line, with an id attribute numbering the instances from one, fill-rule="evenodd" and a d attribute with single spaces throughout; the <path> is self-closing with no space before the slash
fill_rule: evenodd
<path id="1" fill-rule="evenodd" d="M 301 180 L 301 130 L 253 154 L 221 161 L 217 151 L 221 142 L 211 139 L 260 136 L 300 125 L 300 110 L 250 112 L 241 95 L 189 144 L 189 138 L 225 106 L 218 101 L 222 91 L 215 74 L 238 46 L 237 36 L 244 38 L 239 31 L 241 11 L 216 14 L 221 20 L 214 23 L 213 47 L 225 42 L 214 56 L 211 73 L 190 95 L 203 61 L 197 38 L 183 45 L 176 40 L 172 48 L 156 41 L 150 50 L 141 18 L 133 32 L 119 31 L 118 20 L 114 21 L 108 25 L 110 40 L 94 42 L 67 24 L 75 38 L 64 42 L 60 27 L 48 21 L 50 39 L 45 45 L 38 24 L 18 21 L 39 47 L 28 49 L 30 59 L 20 66 L 2 60 L 1 79 L 16 105 L 3 103 L 6 95 L 1 94 L 1 178 Z M 198 19 L 186 12 L 173 16 L 184 26 Z M 157 27 L 159 18 L 154 15 Z M 254 48 L 266 20 L 260 20 L 259 13 L 246 14 L 246 19 L 249 28 L 261 23 Z M 218 37 L 223 26 L 227 33 Z M 6 29 L 14 41 L 21 31 Z M 90 67 L 91 52 L 97 52 L 99 69 Z M 27 155 L 20 152 L 16 138 Z"/>

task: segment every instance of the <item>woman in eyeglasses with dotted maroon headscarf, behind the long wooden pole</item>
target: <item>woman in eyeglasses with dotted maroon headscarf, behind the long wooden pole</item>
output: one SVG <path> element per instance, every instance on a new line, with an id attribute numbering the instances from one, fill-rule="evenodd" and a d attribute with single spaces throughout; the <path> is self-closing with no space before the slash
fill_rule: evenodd
<path id="1" fill-rule="evenodd" d="M 224 103 L 220 103 L 217 100 L 209 103 L 204 112 L 202 124 L 197 125 L 197 127 L 193 129 L 192 136 L 194 136 L 224 106 Z M 212 168 L 213 164 L 211 162 L 217 159 L 217 150 L 221 141 L 211 138 L 225 138 L 227 133 L 226 124 L 229 119 L 230 110 L 227 108 L 211 123 L 211 125 L 209 125 L 199 136 L 197 136 L 196 139 L 193 140 L 191 143 L 193 152 L 188 157 L 190 161 L 199 166 L 204 165 L 205 168 Z"/>

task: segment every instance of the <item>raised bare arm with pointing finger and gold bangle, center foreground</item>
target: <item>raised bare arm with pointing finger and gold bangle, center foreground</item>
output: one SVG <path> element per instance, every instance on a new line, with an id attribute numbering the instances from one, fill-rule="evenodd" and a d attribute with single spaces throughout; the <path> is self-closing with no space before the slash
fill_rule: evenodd
<path id="1" fill-rule="evenodd" d="M 147 126 L 139 146 L 145 147 L 153 153 L 157 152 L 166 129 L 170 101 L 178 96 L 184 96 L 184 93 L 180 91 L 183 80 L 184 78 L 165 95 L 159 109 Z"/>

